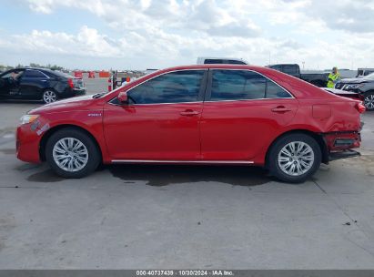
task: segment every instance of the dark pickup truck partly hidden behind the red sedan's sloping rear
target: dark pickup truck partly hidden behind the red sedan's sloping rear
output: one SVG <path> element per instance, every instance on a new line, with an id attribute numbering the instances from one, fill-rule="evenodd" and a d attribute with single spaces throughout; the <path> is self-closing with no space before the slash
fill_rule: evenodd
<path id="1" fill-rule="evenodd" d="M 327 80 L 329 77 L 329 73 L 315 71 L 301 72 L 298 64 L 278 64 L 269 65 L 267 67 L 286 73 L 293 77 L 298 77 L 299 79 L 307 81 L 308 83 L 313 84 L 317 87 L 326 87 L 328 83 Z"/>

